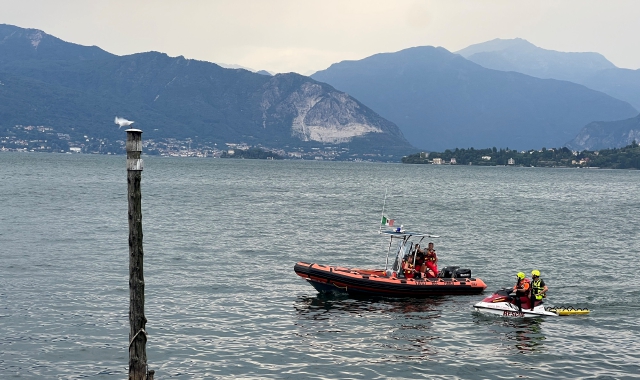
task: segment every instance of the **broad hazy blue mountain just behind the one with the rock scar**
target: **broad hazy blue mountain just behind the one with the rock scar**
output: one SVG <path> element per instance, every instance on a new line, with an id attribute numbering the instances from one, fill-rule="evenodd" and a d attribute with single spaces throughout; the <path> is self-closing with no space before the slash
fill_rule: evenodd
<path id="1" fill-rule="evenodd" d="M 343 61 L 311 77 L 358 98 L 431 151 L 562 147 L 590 122 L 638 114 L 584 85 L 489 69 L 429 46 Z"/>

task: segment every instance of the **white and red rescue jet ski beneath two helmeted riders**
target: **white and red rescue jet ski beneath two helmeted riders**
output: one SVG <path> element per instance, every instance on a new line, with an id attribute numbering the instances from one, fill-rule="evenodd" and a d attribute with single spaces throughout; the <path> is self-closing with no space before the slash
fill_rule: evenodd
<path id="1" fill-rule="evenodd" d="M 528 297 L 511 295 L 512 292 L 512 289 L 500 289 L 473 305 L 473 307 L 476 311 L 502 317 L 536 318 L 558 316 L 557 312 L 551 311 L 553 309 L 545 309 L 542 301 L 536 301 L 532 309 Z M 521 299 L 520 306 L 517 304 L 517 298 Z"/>

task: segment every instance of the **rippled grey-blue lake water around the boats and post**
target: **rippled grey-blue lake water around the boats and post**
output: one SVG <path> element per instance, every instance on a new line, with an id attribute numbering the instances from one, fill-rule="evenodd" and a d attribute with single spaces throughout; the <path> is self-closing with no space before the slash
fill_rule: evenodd
<path id="1" fill-rule="evenodd" d="M 124 156 L 0 154 L 0 378 L 122 379 Z M 156 379 L 633 378 L 639 171 L 145 157 L 147 356 Z M 539 269 L 548 305 L 320 297 L 297 261 L 384 266 L 386 214 L 490 291 Z"/>

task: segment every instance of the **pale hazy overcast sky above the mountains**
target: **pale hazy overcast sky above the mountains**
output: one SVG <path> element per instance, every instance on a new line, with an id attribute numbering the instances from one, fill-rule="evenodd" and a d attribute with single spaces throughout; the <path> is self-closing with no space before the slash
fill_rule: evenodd
<path id="1" fill-rule="evenodd" d="M 0 0 L 0 23 L 118 55 L 155 50 L 271 72 L 516 37 L 640 68 L 638 0 Z"/>

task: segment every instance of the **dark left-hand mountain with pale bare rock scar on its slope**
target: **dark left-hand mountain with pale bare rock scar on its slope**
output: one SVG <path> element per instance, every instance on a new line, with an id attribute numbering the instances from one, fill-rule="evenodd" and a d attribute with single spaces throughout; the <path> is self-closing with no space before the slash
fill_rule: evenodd
<path id="1" fill-rule="evenodd" d="M 302 75 L 225 69 L 158 52 L 121 57 L 34 29 L 0 26 L 0 82 L 3 126 L 122 139 L 112 120 L 134 115 L 147 139 L 336 145 L 396 160 L 415 150 L 392 122 Z"/>

